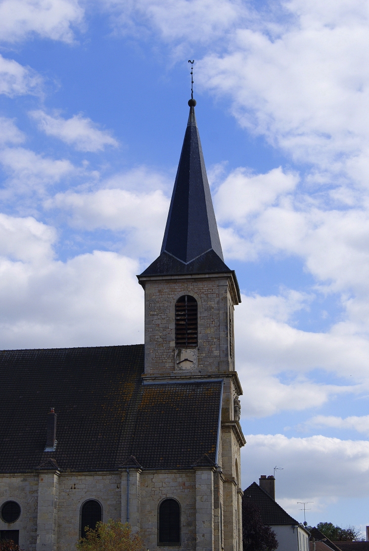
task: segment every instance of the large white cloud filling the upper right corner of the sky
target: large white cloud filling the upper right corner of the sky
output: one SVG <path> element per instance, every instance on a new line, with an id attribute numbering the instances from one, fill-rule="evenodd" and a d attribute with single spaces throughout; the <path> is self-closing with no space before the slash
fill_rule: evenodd
<path id="1" fill-rule="evenodd" d="M 224 52 L 199 63 L 199 78 L 231 99 L 242 126 L 296 160 L 352 177 L 369 144 L 366 4 L 329 1 L 322 9 L 296 0 L 283 7 L 278 25 L 273 12 L 263 13 L 264 28 L 241 21 Z"/>

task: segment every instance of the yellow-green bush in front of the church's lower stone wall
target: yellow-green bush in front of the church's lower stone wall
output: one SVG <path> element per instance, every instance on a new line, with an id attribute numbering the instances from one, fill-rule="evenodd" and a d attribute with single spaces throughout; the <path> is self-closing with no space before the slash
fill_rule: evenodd
<path id="1" fill-rule="evenodd" d="M 121 521 L 97 522 L 86 528 L 86 537 L 77 543 L 78 551 L 143 551 L 142 539 L 132 534 L 131 525 Z"/>

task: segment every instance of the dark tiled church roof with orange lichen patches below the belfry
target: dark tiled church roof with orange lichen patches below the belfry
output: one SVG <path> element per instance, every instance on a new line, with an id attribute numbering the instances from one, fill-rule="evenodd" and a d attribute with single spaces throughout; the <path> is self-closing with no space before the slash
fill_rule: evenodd
<path id="1" fill-rule="evenodd" d="M 143 385 L 143 370 L 142 344 L 1 351 L 0 471 L 215 461 L 221 382 Z M 44 452 L 51 407 L 58 444 Z"/>

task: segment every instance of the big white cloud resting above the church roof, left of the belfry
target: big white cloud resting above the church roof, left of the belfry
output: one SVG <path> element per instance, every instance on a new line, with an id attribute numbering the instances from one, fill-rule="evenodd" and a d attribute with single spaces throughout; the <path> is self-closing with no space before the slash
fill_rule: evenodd
<path id="1" fill-rule="evenodd" d="M 142 342 L 137 262 L 101 251 L 56 261 L 55 241 L 32 217 L 0 215 L 2 348 Z"/>

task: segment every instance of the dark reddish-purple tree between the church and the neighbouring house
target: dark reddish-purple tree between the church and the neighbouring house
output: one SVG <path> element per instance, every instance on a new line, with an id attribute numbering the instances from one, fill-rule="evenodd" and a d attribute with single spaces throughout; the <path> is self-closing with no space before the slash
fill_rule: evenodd
<path id="1" fill-rule="evenodd" d="M 243 551 L 274 551 L 278 547 L 275 532 L 263 524 L 259 507 L 242 500 Z"/>

